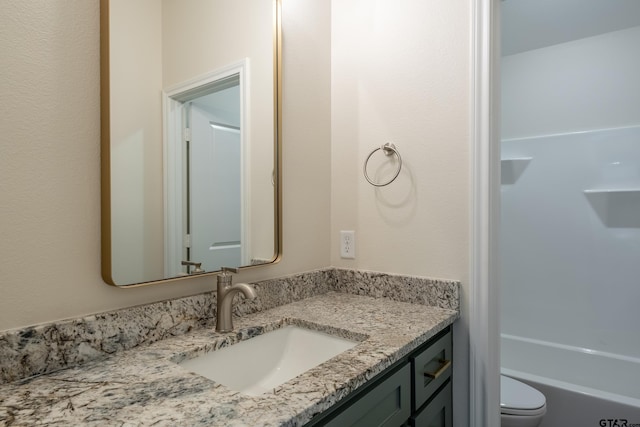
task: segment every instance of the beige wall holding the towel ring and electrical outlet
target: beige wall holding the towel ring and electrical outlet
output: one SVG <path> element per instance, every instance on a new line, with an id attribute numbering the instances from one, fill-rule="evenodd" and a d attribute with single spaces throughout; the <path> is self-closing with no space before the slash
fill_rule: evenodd
<path id="1" fill-rule="evenodd" d="M 331 262 L 462 281 L 456 426 L 469 425 L 470 6 L 332 4 Z M 403 166 L 394 182 L 376 188 L 363 163 L 386 142 L 396 145 Z M 384 182 L 395 167 L 378 151 L 367 170 Z M 340 258 L 340 230 L 355 230 L 355 260 Z"/>

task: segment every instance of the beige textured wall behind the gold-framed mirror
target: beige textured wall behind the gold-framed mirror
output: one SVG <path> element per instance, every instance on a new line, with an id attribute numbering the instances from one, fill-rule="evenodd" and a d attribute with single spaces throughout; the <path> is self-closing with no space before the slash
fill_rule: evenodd
<path id="1" fill-rule="evenodd" d="M 330 10 L 291 3 L 285 257 L 238 280 L 330 264 Z M 4 2 L 0 52 L 0 330 L 213 289 L 213 277 L 129 290 L 100 277 L 98 0 Z"/>

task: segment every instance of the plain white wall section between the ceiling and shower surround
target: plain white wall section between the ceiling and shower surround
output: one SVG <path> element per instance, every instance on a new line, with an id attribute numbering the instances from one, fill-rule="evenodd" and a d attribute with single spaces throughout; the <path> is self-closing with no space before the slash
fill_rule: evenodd
<path id="1" fill-rule="evenodd" d="M 505 56 L 502 138 L 640 124 L 640 26 Z"/>

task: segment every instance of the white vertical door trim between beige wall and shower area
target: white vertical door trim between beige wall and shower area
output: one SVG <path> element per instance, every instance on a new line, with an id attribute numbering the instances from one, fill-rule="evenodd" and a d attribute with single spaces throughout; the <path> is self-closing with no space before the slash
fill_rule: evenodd
<path id="1" fill-rule="evenodd" d="M 500 425 L 499 7 L 497 0 L 474 0 L 472 11 L 469 286 L 472 427 Z"/>

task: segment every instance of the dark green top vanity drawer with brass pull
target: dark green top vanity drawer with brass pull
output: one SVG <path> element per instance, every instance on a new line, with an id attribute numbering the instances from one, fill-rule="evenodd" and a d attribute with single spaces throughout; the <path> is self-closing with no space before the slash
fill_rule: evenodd
<path id="1" fill-rule="evenodd" d="M 411 357 L 413 408 L 417 411 L 451 377 L 451 331 Z"/>

